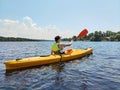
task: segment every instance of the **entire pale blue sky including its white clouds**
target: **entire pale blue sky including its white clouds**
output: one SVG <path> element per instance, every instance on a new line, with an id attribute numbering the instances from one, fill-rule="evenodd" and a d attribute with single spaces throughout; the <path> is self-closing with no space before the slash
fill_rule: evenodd
<path id="1" fill-rule="evenodd" d="M 120 31 L 120 0 L 0 0 L 0 36 L 53 39 Z"/>

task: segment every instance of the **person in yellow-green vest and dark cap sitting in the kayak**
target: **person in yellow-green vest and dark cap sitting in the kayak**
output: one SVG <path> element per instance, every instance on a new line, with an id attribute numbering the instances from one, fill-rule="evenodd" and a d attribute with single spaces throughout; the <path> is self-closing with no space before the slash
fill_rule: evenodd
<path id="1" fill-rule="evenodd" d="M 56 36 L 55 37 L 55 43 L 52 45 L 52 50 L 51 50 L 51 54 L 66 54 L 65 51 L 63 51 L 63 48 L 67 47 L 67 46 L 71 46 L 73 40 L 71 40 L 71 42 L 69 44 L 60 44 L 61 42 L 61 37 L 60 36 Z"/>

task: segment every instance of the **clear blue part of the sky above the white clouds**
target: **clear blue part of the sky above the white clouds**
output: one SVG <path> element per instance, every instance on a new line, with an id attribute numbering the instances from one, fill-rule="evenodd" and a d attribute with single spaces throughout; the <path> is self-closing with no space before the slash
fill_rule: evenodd
<path id="1" fill-rule="evenodd" d="M 120 31 L 120 0 L 0 0 L 0 19 L 28 16 L 39 27 L 54 25 L 78 33 L 83 28 Z"/>

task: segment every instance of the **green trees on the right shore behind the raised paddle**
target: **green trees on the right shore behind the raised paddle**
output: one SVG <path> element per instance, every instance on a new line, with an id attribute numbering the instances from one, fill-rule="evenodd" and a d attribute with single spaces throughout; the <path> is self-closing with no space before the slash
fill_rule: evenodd
<path id="1" fill-rule="evenodd" d="M 70 41 L 71 39 L 75 38 L 63 38 L 63 41 Z M 93 33 L 89 33 L 87 36 L 82 37 L 78 40 L 85 40 L 85 41 L 120 41 L 120 31 L 112 32 L 112 31 L 95 31 Z"/>

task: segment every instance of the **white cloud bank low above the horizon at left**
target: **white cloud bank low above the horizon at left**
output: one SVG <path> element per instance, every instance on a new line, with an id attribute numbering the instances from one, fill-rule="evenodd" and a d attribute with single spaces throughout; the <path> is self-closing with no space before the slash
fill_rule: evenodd
<path id="1" fill-rule="evenodd" d="M 18 20 L 0 19 L 0 36 L 54 39 L 56 35 L 72 37 L 74 34 L 66 30 L 60 30 L 56 25 L 40 27 L 28 16 L 24 17 L 22 22 Z"/>

